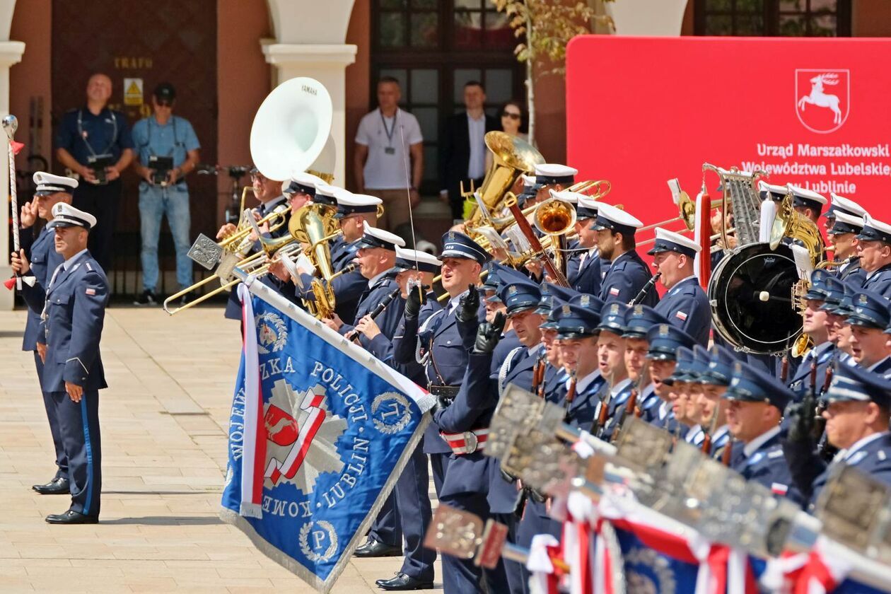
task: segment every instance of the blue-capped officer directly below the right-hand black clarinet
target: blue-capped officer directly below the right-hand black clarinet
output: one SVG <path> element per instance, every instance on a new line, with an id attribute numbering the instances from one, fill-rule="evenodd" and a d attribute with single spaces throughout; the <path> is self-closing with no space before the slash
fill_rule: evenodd
<path id="1" fill-rule="evenodd" d="M 649 305 L 633 305 L 625 312 L 625 330 L 622 333 L 622 338 L 625 338 L 625 367 L 637 392 L 634 414 L 645 419 L 650 418 L 649 415 L 655 412 L 660 402 L 656 385 L 650 377 L 647 331 L 656 324 L 667 323 L 669 321 Z"/>

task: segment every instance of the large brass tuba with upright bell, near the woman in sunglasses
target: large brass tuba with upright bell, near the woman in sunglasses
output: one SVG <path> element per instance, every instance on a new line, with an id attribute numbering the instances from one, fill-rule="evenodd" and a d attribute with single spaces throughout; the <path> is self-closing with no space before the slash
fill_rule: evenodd
<path id="1" fill-rule="evenodd" d="M 535 171 L 536 165 L 544 163 L 544 157 L 528 142 L 503 132 L 487 132 L 486 148 L 492 152 L 492 166 L 486 172 L 478 194 L 486 210 L 494 215 L 504 210 L 505 195 L 519 175 Z M 480 208 L 474 207 L 466 228 L 485 224 L 481 222 L 483 217 Z"/>

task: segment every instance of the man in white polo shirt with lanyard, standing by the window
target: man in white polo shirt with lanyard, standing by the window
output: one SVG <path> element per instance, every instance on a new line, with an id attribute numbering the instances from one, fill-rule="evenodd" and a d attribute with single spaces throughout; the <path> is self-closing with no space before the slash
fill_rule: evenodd
<path id="1" fill-rule="evenodd" d="M 394 77 L 378 82 L 378 109 L 367 113 L 356 130 L 353 174 L 356 192 L 383 200 L 378 227 L 395 231 L 409 221 L 409 201 L 421 201 L 424 138 L 418 119 L 399 109 L 402 93 Z"/>

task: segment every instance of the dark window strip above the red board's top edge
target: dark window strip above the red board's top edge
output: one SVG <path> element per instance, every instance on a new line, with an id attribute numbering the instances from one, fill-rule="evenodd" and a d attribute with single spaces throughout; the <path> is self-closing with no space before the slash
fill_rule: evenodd
<path id="1" fill-rule="evenodd" d="M 850 37 L 851 0 L 696 0 L 707 36 Z"/>

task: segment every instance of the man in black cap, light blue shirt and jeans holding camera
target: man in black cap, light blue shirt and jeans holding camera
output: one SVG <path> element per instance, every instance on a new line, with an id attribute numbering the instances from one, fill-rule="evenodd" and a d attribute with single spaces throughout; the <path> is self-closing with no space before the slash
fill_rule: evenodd
<path id="1" fill-rule="evenodd" d="M 189 258 L 189 189 L 185 175 L 198 165 L 200 143 L 192 124 L 173 115 L 176 89 L 161 83 L 151 95 L 152 115 L 133 126 L 138 161 L 140 232 L 143 237 L 143 294 L 134 305 L 157 305 L 158 236 L 167 215 L 176 248 L 176 281 L 180 289 L 192 284 Z"/>

